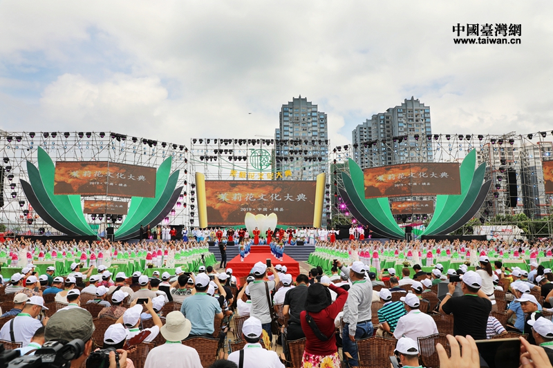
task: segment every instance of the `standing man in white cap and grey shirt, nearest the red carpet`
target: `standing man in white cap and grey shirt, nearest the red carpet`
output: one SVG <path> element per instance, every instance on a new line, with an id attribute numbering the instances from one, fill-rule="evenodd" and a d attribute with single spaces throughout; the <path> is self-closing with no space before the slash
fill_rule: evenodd
<path id="1" fill-rule="evenodd" d="M 263 262 L 257 262 L 252 268 L 252 273 L 254 274 L 255 281 L 251 282 L 248 286 L 250 287 L 250 297 L 252 298 L 252 309 L 250 311 L 251 316 L 254 316 L 261 320 L 263 329 L 267 331 L 268 335 L 271 337 L 271 315 L 270 308 L 272 305 L 268 304 L 267 301 L 267 289 L 269 293 L 277 287 L 281 279 L 277 273 L 277 270 L 274 267 L 269 267 L 269 270 L 274 275 L 274 280 L 265 282 L 265 274 L 267 273 L 267 265 Z M 267 285 L 267 287 L 265 287 Z"/>

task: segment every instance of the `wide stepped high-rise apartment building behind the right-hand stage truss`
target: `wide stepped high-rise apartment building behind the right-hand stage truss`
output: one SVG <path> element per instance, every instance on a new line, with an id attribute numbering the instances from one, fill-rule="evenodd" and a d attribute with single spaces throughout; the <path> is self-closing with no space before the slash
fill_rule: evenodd
<path id="1" fill-rule="evenodd" d="M 432 162 L 430 106 L 411 97 L 373 115 L 352 132 L 353 159 L 361 168 Z"/>

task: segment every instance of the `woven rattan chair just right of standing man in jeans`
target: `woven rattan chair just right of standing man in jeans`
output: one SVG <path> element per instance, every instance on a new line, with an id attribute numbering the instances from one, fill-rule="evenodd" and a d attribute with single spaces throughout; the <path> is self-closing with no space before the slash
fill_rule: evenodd
<path id="1" fill-rule="evenodd" d="M 395 338 L 379 336 L 357 340 L 359 368 L 389 368 L 390 356 L 393 356 L 396 344 Z"/>

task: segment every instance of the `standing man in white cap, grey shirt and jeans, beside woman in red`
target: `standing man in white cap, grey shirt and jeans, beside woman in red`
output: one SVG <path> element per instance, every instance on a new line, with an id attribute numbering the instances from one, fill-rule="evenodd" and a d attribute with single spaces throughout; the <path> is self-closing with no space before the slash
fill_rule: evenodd
<path id="1" fill-rule="evenodd" d="M 344 329 L 342 330 L 342 344 L 344 360 L 348 360 L 349 367 L 357 367 L 357 344 L 355 340 L 368 338 L 373 335 L 373 323 L 371 322 L 371 302 L 373 301 L 373 285 L 365 279 L 366 266 L 363 262 L 353 262 L 351 267 L 342 266 L 338 261 L 338 267 L 352 282 L 348 290 L 348 300 L 344 305 Z M 352 358 L 346 356 L 348 353 Z"/>

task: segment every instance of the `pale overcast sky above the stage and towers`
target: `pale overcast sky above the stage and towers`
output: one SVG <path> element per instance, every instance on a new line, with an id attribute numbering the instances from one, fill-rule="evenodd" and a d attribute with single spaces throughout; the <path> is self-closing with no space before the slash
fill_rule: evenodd
<path id="1" fill-rule="evenodd" d="M 552 130 L 552 19 L 552 1 L 0 1 L 0 128 L 272 136 L 301 95 L 333 145 L 411 96 L 433 133 Z M 521 44 L 456 45 L 457 23 L 518 23 Z"/>

